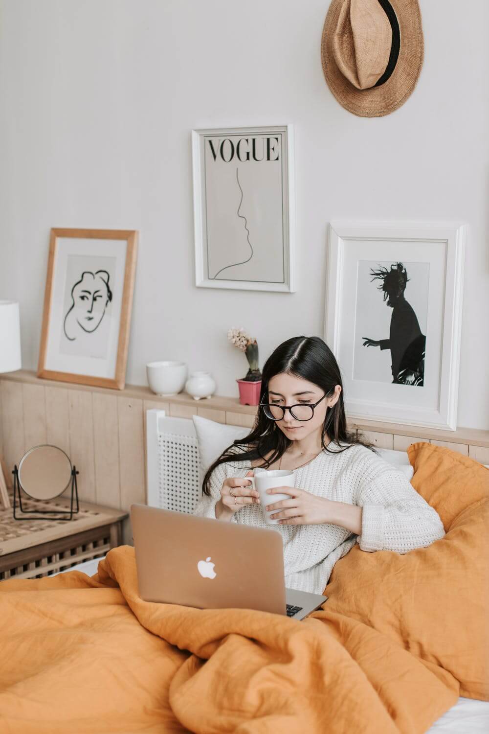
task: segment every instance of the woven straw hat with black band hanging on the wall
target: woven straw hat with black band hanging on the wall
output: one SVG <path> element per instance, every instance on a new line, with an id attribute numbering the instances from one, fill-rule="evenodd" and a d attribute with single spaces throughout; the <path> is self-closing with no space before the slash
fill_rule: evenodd
<path id="1" fill-rule="evenodd" d="M 360 117 L 394 112 L 411 95 L 423 64 L 417 0 L 332 0 L 321 58 L 328 87 Z"/>

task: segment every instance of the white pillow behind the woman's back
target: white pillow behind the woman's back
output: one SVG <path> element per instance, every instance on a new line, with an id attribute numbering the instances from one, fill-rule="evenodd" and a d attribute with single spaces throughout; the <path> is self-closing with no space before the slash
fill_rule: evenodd
<path id="1" fill-rule="evenodd" d="M 210 421 L 208 418 L 202 418 L 201 415 L 192 415 L 192 420 L 194 421 L 197 442 L 199 443 L 200 463 L 204 473 L 234 440 L 244 438 L 251 432 L 250 428 L 216 423 L 216 421 Z M 409 480 L 412 479 L 414 470 L 405 451 L 378 448 L 378 453 L 386 462 L 394 464 L 400 469 Z"/>

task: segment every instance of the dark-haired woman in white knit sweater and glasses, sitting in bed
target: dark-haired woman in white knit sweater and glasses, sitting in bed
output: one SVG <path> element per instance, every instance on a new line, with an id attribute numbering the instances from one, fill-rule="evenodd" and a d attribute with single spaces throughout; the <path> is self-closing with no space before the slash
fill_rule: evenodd
<path id="1" fill-rule="evenodd" d="M 322 339 L 284 341 L 262 375 L 254 427 L 207 470 L 195 515 L 270 528 L 247 477 L 258 466 L 293 470 L 295 488 L 268 490 L 267 509 L 280 520 L 286 586 L 317 594 L 355 542 L 406 553 L 444 537 L 405 475 L 348 433 L 339 367 Z M 274 503 L 273 493 L 290 499 Z"/>

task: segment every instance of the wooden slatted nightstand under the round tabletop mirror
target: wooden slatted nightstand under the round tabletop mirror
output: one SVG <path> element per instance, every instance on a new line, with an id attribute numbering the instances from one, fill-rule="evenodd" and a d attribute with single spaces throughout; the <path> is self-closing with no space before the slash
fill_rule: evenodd
<path id="1" fill-rule="evenodd" d="M 12 495 L 10 502 L 13 504 Z M 65 498 L 22 500 L 29 511 L 69 509 Z M 12 507 L 0 509 L 0 581 L 41 578 L 89 559 L 105 556 L 122 543 L 122 520 L 128 512 L 79 503 L 73 520 L 14 520 Z"/>

